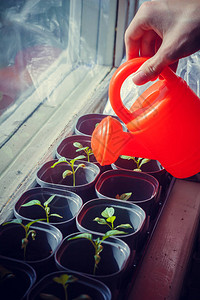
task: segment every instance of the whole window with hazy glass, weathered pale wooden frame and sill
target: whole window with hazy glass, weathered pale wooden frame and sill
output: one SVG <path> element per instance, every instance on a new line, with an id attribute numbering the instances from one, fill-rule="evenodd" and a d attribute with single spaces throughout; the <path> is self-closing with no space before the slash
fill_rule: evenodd
<path id="1" fill-rule="evenodd" d="M 1 221 L 76 118 L 104 106 L 136 2 L 0 2 Z"/>

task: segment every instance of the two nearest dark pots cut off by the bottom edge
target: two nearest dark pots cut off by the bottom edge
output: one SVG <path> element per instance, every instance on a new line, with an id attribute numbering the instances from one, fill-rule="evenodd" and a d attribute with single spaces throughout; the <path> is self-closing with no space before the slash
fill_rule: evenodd
<path id="1" fill-rule="evenodd" d="M 105 284 L 79 272 L 56 270 L 36 282 L 36 272 L 29 264 L 0 256 L 0 274 L 1 299 L 4 300 L 67 299 L 63 286 L 55 281 L 66 275 L 74 279 L 70 278 L 72 285 L 67 289 L 68 299 L 111 299 L 111 292 Z M 81 295 L 90 295 L 90 298 L 78 298 Z"/>

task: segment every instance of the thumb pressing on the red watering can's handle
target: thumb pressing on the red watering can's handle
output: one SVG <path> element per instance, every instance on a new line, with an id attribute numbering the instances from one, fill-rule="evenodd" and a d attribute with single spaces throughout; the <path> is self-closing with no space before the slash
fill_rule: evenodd
<path id="1" fill-rule="evenodd" d="M 162 70 L 171 62 L 165 59 L 158 52 L 149 58 L 142 66 L 133 74 L 132 80 L 136 85 L 142 85 L 150 80 L 155 80 Z"/>

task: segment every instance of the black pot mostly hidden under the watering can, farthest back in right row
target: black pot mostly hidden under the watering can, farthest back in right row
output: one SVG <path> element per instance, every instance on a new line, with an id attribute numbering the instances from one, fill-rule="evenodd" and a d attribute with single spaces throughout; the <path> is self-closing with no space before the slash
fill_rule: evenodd
<path id="1" fill-rule="evenodd" d="M 122 159 L 121 157 L 119 157 L 111 166 L 114 170 L 117 169 L 133 171 L 137 168 L 136 163 L 132 159 Z M 141 170 L 142 172 L 154 176 L 161 185 L 164 184 L 166 178 L 166 170 L 161 166 L 159 161 L 150 160 L 148 163 L 142 165 Z"/>

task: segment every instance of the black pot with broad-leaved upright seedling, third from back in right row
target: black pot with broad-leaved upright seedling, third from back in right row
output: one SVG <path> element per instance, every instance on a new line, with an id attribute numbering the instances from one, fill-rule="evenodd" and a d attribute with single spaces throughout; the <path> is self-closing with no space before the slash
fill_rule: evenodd
<path id="1" fill-rule="evenodd" d="M 119 201 L 114 199 L 93 199 L 86 202 L 79 214 L 76 217 L 77 228 L 81 232 L 90 232 L 96 235 L 105 234 L 110 228 L 106 225 L 98 224 L 94 219 L 96 217 L 102 218 L 101 213 L 107 208 L 113 207 L 116 219 L 114 226 L 120 224 L 130 224 L 132 228 L 123 229 L 127 234 L 116 235 L 115 237 L 127 243 L 131 250 L 131 262 L 134 260 L 135 251 L 140 248 L 143 243 L 144 229 L 146 222 L 146 214 L 144 210 L 138 205 L 127 201 Z"/>

